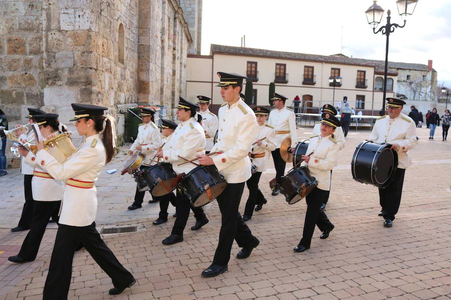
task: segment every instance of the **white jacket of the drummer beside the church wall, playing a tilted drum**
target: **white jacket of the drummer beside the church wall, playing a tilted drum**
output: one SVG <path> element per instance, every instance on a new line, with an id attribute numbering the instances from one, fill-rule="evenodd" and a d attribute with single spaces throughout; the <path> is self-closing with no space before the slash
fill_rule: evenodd
<path id="1" fill-rule="evenodd" d="M 154 122 L 150 121 L 139 125 L 138 135 L 135 141 L 130 147 L 133 152 L 136 151 L 136 147 L 141 145 L 141 154 L 145 156 L 144 164 L 153 165 L 156 162 L 151 161 L 152 157 L 156 154 L 159 147 L 161 147 L 160 130 Z"/>

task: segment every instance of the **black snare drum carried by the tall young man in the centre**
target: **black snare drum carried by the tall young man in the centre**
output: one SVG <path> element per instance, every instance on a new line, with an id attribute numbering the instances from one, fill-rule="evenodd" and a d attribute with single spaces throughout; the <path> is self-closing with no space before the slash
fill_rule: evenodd
<path id="1" fill-rule="evenodd" d="M 200 207 L 221 194 L 227 186 L 216 166 L 199 165 L 180 180 L 182 192 L 191 201 L 192 206 Z"/>

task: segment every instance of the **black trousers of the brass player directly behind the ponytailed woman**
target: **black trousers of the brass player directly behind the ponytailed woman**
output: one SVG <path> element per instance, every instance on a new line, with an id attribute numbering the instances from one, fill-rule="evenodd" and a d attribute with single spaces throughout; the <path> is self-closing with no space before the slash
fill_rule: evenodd
<path id="1" fill-rule="evenodd" d="M 33 217 L 30 224 L 30 231 L 22 243 L 19 257 L 26 260 L 35 260 L 38 255 L 42 237 L 46 231 L 50 217 L 58 220 L 61 201 L 35 201 L 33 204 Z"/>

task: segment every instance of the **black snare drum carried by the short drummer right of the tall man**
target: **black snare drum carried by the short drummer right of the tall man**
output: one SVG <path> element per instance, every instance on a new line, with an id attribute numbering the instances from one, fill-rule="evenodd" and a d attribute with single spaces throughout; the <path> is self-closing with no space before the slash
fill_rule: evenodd
<path id="1" fill-rule="evenodd" d="M 310 175 L 309 169 L 301 166 L 282 177 L 279 189 L 285 195 L 288 204 L 293 204 L 303 199 L 317 185 L 318 181 Z"/>

